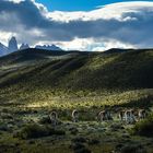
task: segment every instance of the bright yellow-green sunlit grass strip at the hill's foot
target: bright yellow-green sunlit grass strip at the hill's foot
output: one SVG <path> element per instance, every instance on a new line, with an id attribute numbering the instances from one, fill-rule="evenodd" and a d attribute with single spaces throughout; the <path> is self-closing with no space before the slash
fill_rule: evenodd
<path id="1" fill-rule="evenodd" d="M 129 91 L 121 94 L 116 93 L 108 96 L 85 96 L 85 97 L 58 97 L 50 96 L 48 99 L 44 97 L 42 101 L 32 99 L 24 106 L 27 108 L 57 108 L 57 109 L 72 109 L 72 108 L 102 108 L 103 106 L 122 106 L 141 98 L 146 98 L 148 95 L 153 95 L 153 90 Z M 142 104 L 142 105 L 148 105 Z"/>

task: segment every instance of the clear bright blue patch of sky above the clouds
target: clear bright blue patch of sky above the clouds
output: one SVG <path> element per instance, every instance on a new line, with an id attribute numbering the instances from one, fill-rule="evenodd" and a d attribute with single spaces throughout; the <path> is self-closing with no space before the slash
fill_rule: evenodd
<path id="1" fill-rule="evenodd" d="M 49 11 L 89 11 L 98 5 L 105 5 L 108 3 L 136 1 L 136 0 L 36 0 L 45 4 Z M 153 0 L 143 0 L 153 1 Z"/>

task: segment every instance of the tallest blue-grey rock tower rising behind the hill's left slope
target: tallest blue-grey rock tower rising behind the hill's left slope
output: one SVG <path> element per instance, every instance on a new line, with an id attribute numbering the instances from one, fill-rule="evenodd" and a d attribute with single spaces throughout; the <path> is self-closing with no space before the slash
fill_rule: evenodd
<path id="1" fill-rule="evenodd" d="M 14 36 L 9 40 L 8 49 L 10 52 L 16 51 L 19 49 L 17 42 L 16 42 L 16 38 Z"/>

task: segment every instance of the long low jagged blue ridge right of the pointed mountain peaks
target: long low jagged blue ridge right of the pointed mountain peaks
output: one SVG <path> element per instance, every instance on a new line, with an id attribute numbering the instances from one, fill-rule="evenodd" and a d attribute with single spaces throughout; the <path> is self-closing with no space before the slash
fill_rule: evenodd
<path id="1" fill-rule="evenodd" d="M 55 50 L 55 51 L 59 51 L 59 50 L 62 50 L 60 47 L 56 46 L 56 45 L 44 45 L 44 46 L 40 46 L 40 45 L 36 45 L 35 46 L 36 49 L 45 49 L 45 50 Z"/>

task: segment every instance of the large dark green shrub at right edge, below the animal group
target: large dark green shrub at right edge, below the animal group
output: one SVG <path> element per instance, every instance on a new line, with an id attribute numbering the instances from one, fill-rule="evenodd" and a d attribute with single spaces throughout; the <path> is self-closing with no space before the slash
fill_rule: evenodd
<path id="1" fill-rule="evenodd" d="M 148 119 L 144 119 L 140 122 L 137 122 L 133 127 L 132 132 L 134 134 L 153 137 L 153 115 L 149 116 Z"/>

